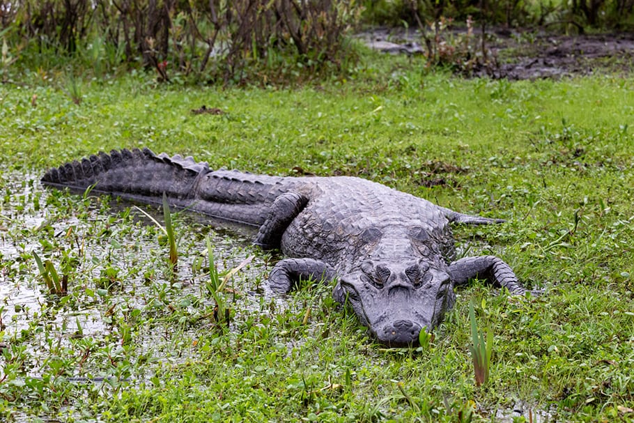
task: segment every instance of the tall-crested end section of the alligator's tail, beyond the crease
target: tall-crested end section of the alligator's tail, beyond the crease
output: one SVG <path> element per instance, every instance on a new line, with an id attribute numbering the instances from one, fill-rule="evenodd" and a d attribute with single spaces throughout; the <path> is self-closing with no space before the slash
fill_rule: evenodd
<path id="1" fill-rule="evenodd" d="M 161 203 L 163 192 L 174 206 L 187 207 L 196 183 L 210 169 L 192 157 L 155 155 L 149 148 L 113 150 L 49 169 L 42 184 L 84 192 L 111 194 L 141 203 Z"/>

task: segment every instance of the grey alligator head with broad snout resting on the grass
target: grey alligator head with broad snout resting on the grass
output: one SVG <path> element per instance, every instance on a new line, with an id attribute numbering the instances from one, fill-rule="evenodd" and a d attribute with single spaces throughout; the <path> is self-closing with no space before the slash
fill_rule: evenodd
<path id="1" fill-rule="evenodd" d="M 389 346 L 418 344 L 454 305 L 446 270 L 426 261 L 365 261 L 339 279 L 334 298 L 350 305 L 362 324 Z"/>

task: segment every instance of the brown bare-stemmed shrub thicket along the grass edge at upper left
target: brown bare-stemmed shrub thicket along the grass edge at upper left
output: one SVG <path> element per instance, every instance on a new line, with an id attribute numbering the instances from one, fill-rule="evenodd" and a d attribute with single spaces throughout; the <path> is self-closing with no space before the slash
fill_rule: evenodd
<path id="1" fill-rule="evenodd" d="M 6 17 L 6 8 L 13 15 Z M 123 52 L 122 61 L 140 61 L 155 68 L 164 81 L 169 80 L 170 70 L 185 75 L 208 73 L 228 81 L 247 65 L 271 68 L 280 57 L 287 64 L 338 65 L 344 36 L 359 19 L 360 10 L 354 0 L 0 3 L 2 19 L 12 20 L 29 41 L 45 42 L 70 54 L 78 47 L 103 43 L 105 50 Z"/>

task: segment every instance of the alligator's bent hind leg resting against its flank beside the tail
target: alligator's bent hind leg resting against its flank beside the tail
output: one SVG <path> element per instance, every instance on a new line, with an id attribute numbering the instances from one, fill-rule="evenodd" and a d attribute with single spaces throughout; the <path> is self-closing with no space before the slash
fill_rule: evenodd
<path id="1" fill-rule="evenodd" d="M 254 244 L 263 249 L 279 247 L 281 236 L 308 203 L 308 199 L 295 192 L 281 194 L 271 206 L 270 213 L 254 240 Z"/>

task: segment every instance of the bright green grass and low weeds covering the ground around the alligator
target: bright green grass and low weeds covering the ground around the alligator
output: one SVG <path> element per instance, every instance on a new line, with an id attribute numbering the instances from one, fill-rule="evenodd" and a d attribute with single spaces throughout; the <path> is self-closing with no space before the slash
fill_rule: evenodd
<path id="1" fill-rule="evenodd" d="M 0 420 L 453 422 L 499 411 L 511 421 L 518 407 L 525 420 L 515 421 L 529 410 L 634 420 L 631 77 L 463 80 L 373 56 L 347 80 L 299 89 L 167 86 L 141 74 L 76 83 L 79 104 L 61 74 L 0 85 Z M 226 113 L 194 116 L 201 105 Z M 144 215 L 38 183 L 47 167 L 134 146 L 213 168 L 361 176 L 503 217 L 456 227 L 459 254 L 500 256 L 546 293 L 460 289 L 427 348 L 394 351 L 331 287 L 267 291 L 278 257 L 248 233 L 173 214 L 174 277 Z M 229 328 L 213 321 L 205 288 L 208 237 L 221 277 L 255 255 L 225 286 Z M 47 300 L 32 252 L 73 263 L 67 295 Z M 495 344 L 482 387 L 471 301 Z"/>

